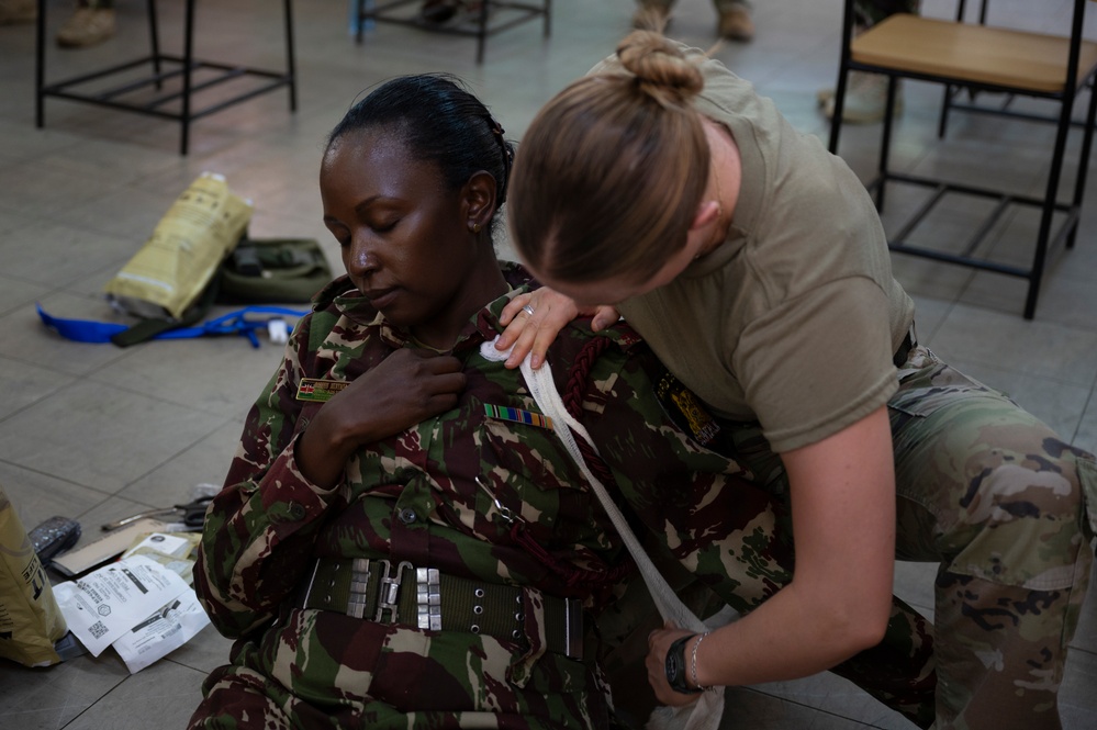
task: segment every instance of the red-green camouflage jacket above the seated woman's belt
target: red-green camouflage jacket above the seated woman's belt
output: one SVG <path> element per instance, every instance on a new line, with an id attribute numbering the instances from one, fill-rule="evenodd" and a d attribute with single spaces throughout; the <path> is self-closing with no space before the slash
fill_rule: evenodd
<path id="1" fill-rule="evenodd" d="M 414 344 L 346 278 L 317 296 L 253 406 L 226 486 L 208 513 L 195 588 L 222 633 L 254 639 L 266 630 L 293 603 L 317 557 L 405 560 L 579 598 L 595 611 L 605 605 L 627 551 L 597 497 L 550 429 L 502 419 L 491 408 L 537 412 L 520 372 L 481 355 L 481 346 L 492 347 L 502 332 L 503 306 L 525 291 L 526 274 L 516 266 L 504 269 L 518 288 L 477 313 L 452 349 L 467 375 L 457 407 L 362 447 L 334 488 L 310 483 L 295 462 L 294 443 L 322 406 L 298 400 L 299 384 L 303 378 L 351 381 Z M 571 363 L 600 337 L 573 323 L 557 338 L 549 363 L 561 394 Z M 665 541 L 683 559 L 695 549 L 713 555 L 702 572 L 730 595 L 738 582 L 728 573 L 741 570 L 720 564 L 714 540 L 740 527 L 729 513 L 749 506 L 740 516 L 749 521 L 757 509 L 730 498 L 730 490 L 726 498 L 714 497 L 735 485 L 765 499 L 736 461 L 675 425 L 654 396 L 665 371 L 635 334 L 619 327 L 605 337 L 612 344 L 590 367 L 581 420 L 620 493 L 647 513 L 643 521 L 661 526 L 678 510 L 681 521 L 692 515 L 702 525 L 696 532 L 667 530 L 675 537 Z M 703 524 L 720 525 L 720 534 Z M 690 555 L 694 570 L 698 561 L 706 562 Z M 507 678 L 520 683 L 522 674 Z"/>

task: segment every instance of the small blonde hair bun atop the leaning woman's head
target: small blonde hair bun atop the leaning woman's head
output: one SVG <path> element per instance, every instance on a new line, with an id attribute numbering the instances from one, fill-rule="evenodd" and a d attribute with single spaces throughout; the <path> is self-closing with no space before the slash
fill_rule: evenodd
<path id="1" fill-rule="evenodd" d="M 640 88 L 661 104 L 682 103 L 701 93 L 705 79 L 682 48 L 652 31 L 635 31 L 617 46 L 617 57 Z"/>

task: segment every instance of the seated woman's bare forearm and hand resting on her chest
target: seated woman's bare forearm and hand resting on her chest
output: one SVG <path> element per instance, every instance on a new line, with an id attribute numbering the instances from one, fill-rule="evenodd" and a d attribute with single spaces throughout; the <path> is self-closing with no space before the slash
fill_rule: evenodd
<path id="1" fill-rule="evenodd" d="M 464 383 L 452 356 L 393 351 L 316 412 L 298 443 L 299 468 L 314 484 L 333 486 L 360 446 L 454 408 Z"/>

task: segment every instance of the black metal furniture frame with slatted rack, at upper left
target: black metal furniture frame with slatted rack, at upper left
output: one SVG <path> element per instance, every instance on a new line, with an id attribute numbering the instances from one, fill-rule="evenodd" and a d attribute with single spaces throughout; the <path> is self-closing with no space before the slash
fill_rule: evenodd
<path id="1" fill-rule="evenodd" d="M 197 0 L 186 0 L 186 13 L 184 13 L 184 31 L 183 31 L 183 55 L 172 55 L 166 54 L 160 50 L 159 33 L 157 30 L 156 22 L 156 0 L 148 0 L 148 23 L 149 23 L 149 42 L 150 42 L 150 53 L 147 56 L 136 58 L 122 64 L 116 64 L 114 66 L 109 66 L 107 68 L 100 69 L 98 71 L 91 71 L 89 74 L 82 74 L 75 76 L 61 81 L 54 81 L 46 83 L 46 0 L 38 0 L 38 19 L 37 19 L 37 38 L 35 42 L 35 126 L 42 128 L 45 126 L 45 99 L 46 97 L 53 97 L 57 99 L 67 99 L 69 101 L 77 101 L 90 104 L 98 104 L 100 106 L 108 106 L 110 109 L 116 109 L 128 112 L 136 112 L 138 114 L 147 114 L 150 116 L 158 116 L 166 120 L 175 120 L 180 122 L 182 126 L 181 138 L 179 143 L 179 154 L 187 155 L 189 144 L 190 144 L 190 125 L 194 120 L 201 119 L 203 116 L 209 116 L 214 112 L 219 112 L 227 106 L 232 106 L 242 101 L 246 101 L 262 93 L 268 93 L 275 91 L 282 87 L 288 87 L 290 94 L 290 111 L 295 112 L 298 108 L 296 100 L 296 72 L 295 72 L 295 61 L 293 56 L 293 12 L 292 12 L 292 0 L 282 0 L 282 7 L 284 10 L 284 21 L 286 21 L 286 70 L 284 71 L 272 71 L 258 68 L 251 68 L 247 66 L 239 66 L 235 64 L 225 64 L 211 60 L 201 60 L 194 57 L 194 4 Z M 122 74 L 131 71 L 141 66 L 149 65 L 150 74 L 144 78 L 131 79 L 126 82 L 94 93 L 81 92 L 77 89 L 81 85 L 89 81 L 94 81 L 98 79 L 103 79 L 107 77 L 114 76 L 116 74 Z M 166 65 L 175 65 L 175 68 L 166 69 Z M 221 71 L 219 76 L 205 79 L 201 82 L 194 82 L 193 75 L 199 70 L 213 69 L 215 71 Z M 138 89 L 147 88 L 149 86 L 155 86 L 157 90 L 164 88 L 164 81 L 172 79 L 176 77 L 182 77 L 182 89 L 180 91 L 166 92 L 157 96 L 155 99 L 149 101 L 127 101 L 123 99 L 123 94 L 136 91 Z M 258 77 L 260 79 L 266 79 L 267 83 L 259 86 L 257 88 L 250 89 L 245 93 L 237 94 L 230 99 L 223 99 L 216 103 L 210 104 L 201 109 L 192 108 L 192 96 L 195 92 L 209 89 L 219 83 L 225 81 L 238 79 L 242 77 Z M 180 111 L 167 111 L 161 109 L 164 104 L 179 100 L 181 102 Z"/>

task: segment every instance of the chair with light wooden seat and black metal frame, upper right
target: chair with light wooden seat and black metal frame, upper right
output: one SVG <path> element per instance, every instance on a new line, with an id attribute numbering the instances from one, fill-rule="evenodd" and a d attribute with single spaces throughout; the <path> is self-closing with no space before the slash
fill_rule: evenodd
<path id="1" fill-rule="evenodd" d="M 1089 98 L 1086 121 L 1082 124 L 1083 141 L 1074 195 L 1068 202 L 1059 199 L 1059 183 L 1063 169 L 1063 155 L 1067 134 L 1072 127 L 1072 110 L 1078 92 L 1090 86 L 1097 72 L 1097 43 L 1083 38 L 1083 22 L 1089 0 L 1074 0 L 1066 35 L 1048 35 L 996 27 L 984 22 L 964 22 L 962 11 L 958 20 L 921 18 L 905 13 L 892 15 L 867 31 L 853 37 L 853 1 L 846 0 L 842 20 L 842 50 L 838 85 L 835 97 L 833 122 L 830 128 L 830 150 L 837 153 L 842 127 L 847 79 L 852 70 L 884 74 L 888 77 L 888 110 L 884 117 L 877 177 L 869 183 L 876 207 L 883 210 L 885 186 L 907 183 L 930 188 L 929 200 L 889 237 L 888 247 L 894 251 L 920 256 L 938 261 L 958 263 L 995 271 L 1028 280 L 1025 318 L 1036 314 L 1040 282 L 1049 255 L 1061 246 L 1074 246 L 1086 172 L 1093 142 L 1094 120 L 1097 115 L 1097 93 Z M 1048 182 L 1042 198 L 1012 194 L 1007 190 L 969 186 L 961 181 L 942 180 L 895 172 L 888 168 L 896 81 L 909 78 L 942 85 L 951 89 L 972 92 L 989 91 L 1006 94 L 1046 99 L 1057 102 L 1054 114 L 1055 139 L 1050 150 Z M 943 123 L 941 130 L 943 131 Z M 1008 181 L 1004 181 L 1004 187 Z M 987 220 L 964 242 L 960 252 L 928 248 L 908 243 L 914 228 L 945 195 L 960 193 L 997 201 Z M 994 224 L 1012 205 L 1032 206 L 1040 211 L 1040 223 L 1034 242 L 1031 265 L 1018 267 L 976 257 L 974 251 L 986 238 Z M 1056 212 L 1064 220 L 1052 231 Z"/>

